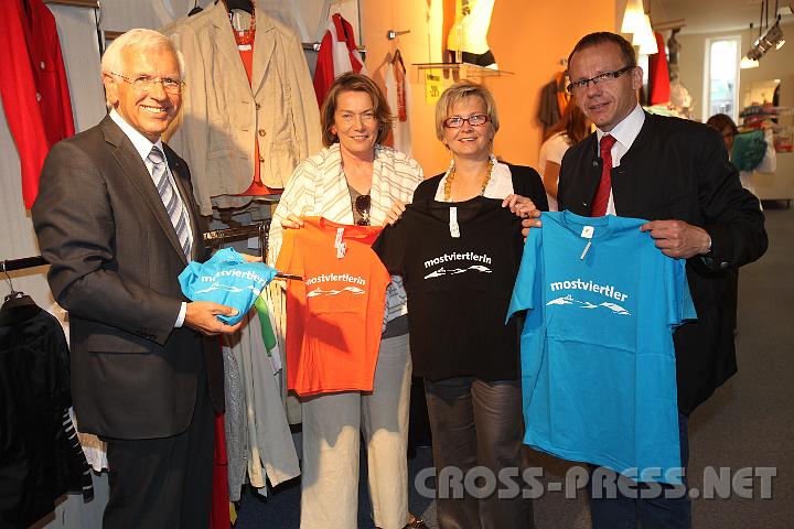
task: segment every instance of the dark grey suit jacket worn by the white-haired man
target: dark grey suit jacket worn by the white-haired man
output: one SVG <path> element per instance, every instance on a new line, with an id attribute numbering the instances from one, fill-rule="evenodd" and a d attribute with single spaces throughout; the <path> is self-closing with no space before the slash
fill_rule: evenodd
<path id="1" fill-rule="evenodd" d="M 202 248 L 190 171 L 163 147 L 194 248 Z M 69 313 L 81 431 L 115 439 L 183 432 L 206 380 L 203 338 L 173 328 L 187 301 L 176 279 L 187 260 L 149 171 L 110 117 L 52 148 L 32 214 L 50 288 Z"/>

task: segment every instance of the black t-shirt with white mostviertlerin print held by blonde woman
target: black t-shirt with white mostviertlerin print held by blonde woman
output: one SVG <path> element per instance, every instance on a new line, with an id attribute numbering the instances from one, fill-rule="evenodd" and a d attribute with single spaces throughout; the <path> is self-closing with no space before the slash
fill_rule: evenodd
<path id="1" fill-rule="evenodd" d="M 460 237 L 452 237 L 451 209 Z M 523 250 L 521 219 L 502 201 L 419 199 L 373 245 L 403 276 L 414 374 L 429 380 L 518 378 L 519 327 L 505 325 Z"/>

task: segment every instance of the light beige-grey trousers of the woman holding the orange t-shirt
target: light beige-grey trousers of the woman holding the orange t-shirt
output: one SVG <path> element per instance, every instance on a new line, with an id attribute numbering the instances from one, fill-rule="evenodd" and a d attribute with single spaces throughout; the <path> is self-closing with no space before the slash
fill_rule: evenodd
<path id="1" fill-rule="evenodd" d="M 375 525 L 408 522 L 408 335 L 380 342 L 372 393 L 345 391 L 301 400 L 301 529 L 358 527 L 358 450 L 367 451 Z M 361 433 L 360 433 L 361 432 Z"/>

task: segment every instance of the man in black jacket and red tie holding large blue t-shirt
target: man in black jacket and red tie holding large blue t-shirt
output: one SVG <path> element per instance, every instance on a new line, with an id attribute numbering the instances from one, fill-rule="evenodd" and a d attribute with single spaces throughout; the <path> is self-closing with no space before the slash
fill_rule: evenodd
<path id="1" fill-rule="evenodd" d="M 614 33 L 582 37 L 568 60 L 576 105 L 597 131 L 566 152 L 559 208 L 579 215 L 645 218 L 666 256 L 687 260 L 697 321 L 674 334 L 682 465 L 688 460 L 689 413 L 737 371 L 732 319 L 726 303 L 726 270 L 766 250 L 759 201 L 741 187 L 720 134 L 694 121 L 648 115 L 637 102 L 642 69 L 634 48 Z M 539 216 L 534 212 L 533 217 Z M 525 227 L 539 226 L 527 219 Z M 616 263 L 618 266 L 618 263 Z M 594 528 L 687 528 L 686 490 L 592 495 Z"/>

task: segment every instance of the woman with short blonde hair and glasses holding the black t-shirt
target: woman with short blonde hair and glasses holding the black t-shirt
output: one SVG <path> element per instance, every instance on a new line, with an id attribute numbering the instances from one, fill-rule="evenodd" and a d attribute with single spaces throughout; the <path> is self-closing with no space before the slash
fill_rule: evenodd
<path id="1" fill-rule="evenodd" d="M 527 204 L 546 208 L 540 175 L 532 168 L 496 160 L 493 141 L 500 128 L 496 102 L 491 91 L 469 80 L 447 88 L 436 104 L 436 136 L 452 156 L 450 168 L 419 184 L 414 199 L 464 202 L 476 196 L 503 201 L 522 215 Z M 530 202 L 532 201 L 532 202 Z M 507 327 L 503 327 L 507 330 Z M 439 330 L 439 332 L 444 332 Z M 516 336 L 517 339 L 517 336 Z M 454 352 L 439 352 L 453 356 Z M 493 365 L 503 365 L 505 352 L 483 352 Z M 518 357 L 508 376 L 486 379 L 481 373 L 431 381 L 425 379 L 433 464 L 437 475 L 452 466 L 464 471 L 483 465 L 498 473 L 527 466 L 522 440 L 522 392 Z M 494 493 L 478 499 L 438 498 L 438 520 L 443 529 L 534 527 L 528 498 L 500 499 Z"/>

